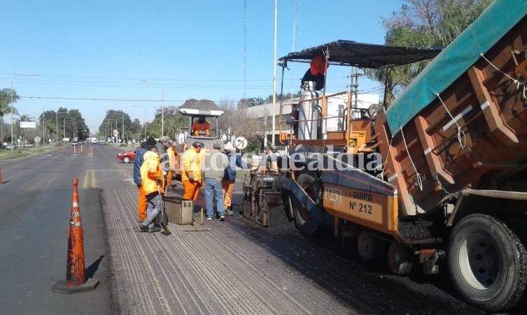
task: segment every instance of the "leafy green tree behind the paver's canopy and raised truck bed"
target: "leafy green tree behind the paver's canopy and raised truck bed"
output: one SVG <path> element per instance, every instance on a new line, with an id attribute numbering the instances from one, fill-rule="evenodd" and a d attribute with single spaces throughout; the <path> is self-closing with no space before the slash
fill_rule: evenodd
<path id="1" fill-rule="evenodd" d="M 398 13 L 383 19 L 386 45 L 444 47 L 474 22 L 492 0 L 405 0 Z M 367 69 L 384 85 L 385 105 L 409 85 L 429 61 L 389 69 Z"/>

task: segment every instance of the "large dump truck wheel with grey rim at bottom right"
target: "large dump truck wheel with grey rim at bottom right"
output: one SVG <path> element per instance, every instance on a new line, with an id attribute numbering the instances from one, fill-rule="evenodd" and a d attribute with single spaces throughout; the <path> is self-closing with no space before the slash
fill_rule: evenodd
<path id="1" fill-rule="evenodd" d="M 460 295 L 488 312 L 517 304 L 527 282 L 527 252 L 516 234 L 488 214 L 470 214 L 449 237 L 450 276 Z"/>

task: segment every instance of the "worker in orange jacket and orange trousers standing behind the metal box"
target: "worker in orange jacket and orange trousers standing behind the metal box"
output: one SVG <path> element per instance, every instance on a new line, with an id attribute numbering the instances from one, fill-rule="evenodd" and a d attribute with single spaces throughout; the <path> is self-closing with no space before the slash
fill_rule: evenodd
<path id="1" fill-rule="evenodd" d="M 199 186 L 202 186 L 202 154 L 200 154 L 203 142 L 192 143 L 190 149 L 183 154 L 183 170 L 181 172 L 181 183 L 185 193 L 183 200 L 196 200 Z"/>

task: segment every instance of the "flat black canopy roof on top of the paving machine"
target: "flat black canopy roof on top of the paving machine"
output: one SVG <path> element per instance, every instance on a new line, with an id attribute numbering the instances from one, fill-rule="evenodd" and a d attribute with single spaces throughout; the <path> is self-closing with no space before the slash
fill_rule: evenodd
<path id="1" fill-rule="evenodd" d="M 440 48 L 397 47 L 339 40 L 300 52 L 290 52 L 279 61 L 282 66 L 287 66 L 288 61 L 309 62 L 313 57 L 323 55 L 326 50 L 330 54 L 330 64 L 359 68 L 401 66 L 433 58 L 441 52 Z"/>

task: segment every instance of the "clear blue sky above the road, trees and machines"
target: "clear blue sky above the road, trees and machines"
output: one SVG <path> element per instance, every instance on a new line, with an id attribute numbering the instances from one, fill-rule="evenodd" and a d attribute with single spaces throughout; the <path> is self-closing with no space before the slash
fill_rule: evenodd
<path id="1" fill-rule="evenodd" d="M 381 17 L 400 0 L 279 0 L 276 57 L 338 39 L 384 43 Z M 93 131 L 108 109 L 153 119 L 154 102 L 188 98 L 238 101 L 272 94 L 274 0 L 3 1 L 0 88 L 11 82 L 15 107 L 38 118 L 43 108 L 77 108 Z M 290 65 L 284 91 L 297 91 L 307 65 Z M 330 69 L 332 70 L 332 69 Z M 346 71 L 349 71 L 347 69 Z M 23 75 L 36 76 L 23 76 Z M 281 68 L 276 70 L 279 92 Z M 344 91 L 346 73 L 330 71 L 329 91 Z M 145 82 L 146 81 L 146 82 Z M 362 79 L 364 91 L 379 84 Z M 41 97 L 38 98 L 29 98 Z M 89 101 L 53 98 L 147 100 Z M 150 101 L 148 101 L 150 100 Z"/>

